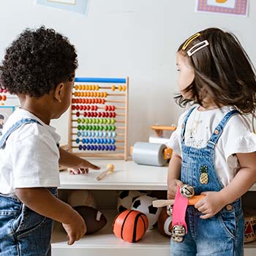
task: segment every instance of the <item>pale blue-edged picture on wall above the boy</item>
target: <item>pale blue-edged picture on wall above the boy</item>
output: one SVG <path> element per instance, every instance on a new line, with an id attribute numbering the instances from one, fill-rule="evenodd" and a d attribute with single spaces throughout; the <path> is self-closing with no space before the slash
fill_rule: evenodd
<path id="1" fill-rule="evenodd" d="M 86 15 L 88 0 L 35 0 L 35 3 Z"/>

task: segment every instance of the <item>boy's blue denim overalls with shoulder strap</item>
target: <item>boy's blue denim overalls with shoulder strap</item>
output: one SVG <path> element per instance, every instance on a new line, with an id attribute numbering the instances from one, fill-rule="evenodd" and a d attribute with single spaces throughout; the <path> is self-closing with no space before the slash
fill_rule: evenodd
<path id="1" fill-rule="evenodd" d="M 31 118 L 21 119 L 1 137 L 0 150 L 15 129 L 29 123 L 39 124 Z M 48 189 L 58 196 L 56 188 Z M 0 194 L 0 256 L 49 256 L 52 227 L 52 219 L 32 211 L 15 196 Z"/>

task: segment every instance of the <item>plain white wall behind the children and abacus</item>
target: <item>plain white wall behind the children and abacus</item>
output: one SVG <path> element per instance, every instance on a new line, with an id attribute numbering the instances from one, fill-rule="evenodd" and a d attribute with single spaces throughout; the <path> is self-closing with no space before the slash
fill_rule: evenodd
<path id="1" fill-rule="evenodd" d="M 183 111 L 173 100 L 176 49 L 210 26 L 233 31 L 255 63 L 256 1 L 248 18 L 195 13 L 194 0 L 89 0 L 86 16 L 35 5 L 0 1 L 0 59 L 26 27 L 45 25 L 67 35 L 79 56 L 77 76 L 126 77 L 129 87 L 129 144 L 148 140 L 150 125 L 176 123 Z M 67 114 L 52 123 L 67 142 Z"/>

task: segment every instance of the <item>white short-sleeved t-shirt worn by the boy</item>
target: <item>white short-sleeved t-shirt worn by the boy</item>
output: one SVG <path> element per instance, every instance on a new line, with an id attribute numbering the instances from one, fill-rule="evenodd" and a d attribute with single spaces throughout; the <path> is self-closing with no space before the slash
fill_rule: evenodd
<path id="1" fill-rule="evenodd" d="M 0 149 L 0 193 L 15 195 L 15 188 L 59 187 L 59 143 L 56 129 L 29 111 L 18 108 L 4 124 L 3 135 L 17 121 L 33 118 L 40 124 L 23 124 Z"/>

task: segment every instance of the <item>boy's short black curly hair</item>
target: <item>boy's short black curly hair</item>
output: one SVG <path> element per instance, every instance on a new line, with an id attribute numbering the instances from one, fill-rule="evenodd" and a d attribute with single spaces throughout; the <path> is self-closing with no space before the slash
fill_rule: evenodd
<path id="1" fill-rule="evenodd" d="M 10 94 L 42 97 L 70 80 L 77 67 L 77 53 L 67 37 L 45 26 L 26 29 L 6 50 L 0 85 Z"/>

